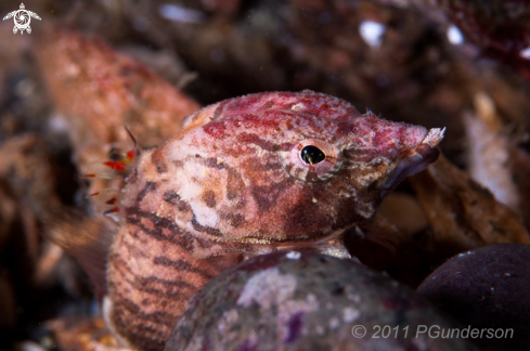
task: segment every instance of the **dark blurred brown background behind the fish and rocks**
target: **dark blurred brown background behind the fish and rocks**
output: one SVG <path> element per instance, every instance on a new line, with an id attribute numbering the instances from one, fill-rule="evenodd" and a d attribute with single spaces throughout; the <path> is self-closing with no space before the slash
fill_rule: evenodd
<path id="1" fill-rule="evenodd" d="M 449 165 L 403 182 L 349 243 L 363 263 L 415 288 L 455 253 L 530 243 L 526 1 L 24 4 L 41 18 L 31 34 L 0 23 L 0 350 L 57 348 L 47 321 L 98 313 L 82 270 L 42 233 L 57 211 L 98 212 L 87 195 L 109 185 L 81 176 L 127 147 L 122 127 L 153 147 L 242 94 L 311 89 L 447 127 Z"/>

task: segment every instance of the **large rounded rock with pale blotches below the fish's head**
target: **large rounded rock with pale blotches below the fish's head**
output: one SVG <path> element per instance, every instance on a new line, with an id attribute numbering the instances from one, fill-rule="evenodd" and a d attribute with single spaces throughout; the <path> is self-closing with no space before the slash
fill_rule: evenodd
<path id="1" fill-rule="evenodd" d="M 416 337 L 421 325 L 455 327 L 412 290 L 352 261 L 276 252 L 210 281 L 190 302 L 166 351 L 478 350 L 463 339 Z M 377 326 L 388 326 L 391 336 L 376 334 Z"/>

